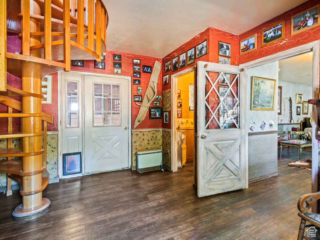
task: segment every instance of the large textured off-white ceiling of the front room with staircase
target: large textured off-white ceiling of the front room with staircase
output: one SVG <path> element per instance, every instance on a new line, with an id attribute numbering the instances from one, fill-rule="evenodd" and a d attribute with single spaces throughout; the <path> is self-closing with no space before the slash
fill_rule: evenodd
<path id="1" fill-rule="evenodd" d="M 163 58 L 208 27 L 240 35 L 306 0 L 103 0 L 107 49 Z"/>

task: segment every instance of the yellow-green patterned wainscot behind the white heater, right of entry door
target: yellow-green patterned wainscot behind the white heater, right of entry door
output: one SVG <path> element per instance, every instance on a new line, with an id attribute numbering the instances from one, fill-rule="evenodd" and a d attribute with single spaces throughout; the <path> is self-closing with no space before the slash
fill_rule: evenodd
<path id="1" fill-rule="evenodd" d="M 162 131 L 132 131 L 132 166 L 136 166 L 136 152 L 162 148 Z"/>

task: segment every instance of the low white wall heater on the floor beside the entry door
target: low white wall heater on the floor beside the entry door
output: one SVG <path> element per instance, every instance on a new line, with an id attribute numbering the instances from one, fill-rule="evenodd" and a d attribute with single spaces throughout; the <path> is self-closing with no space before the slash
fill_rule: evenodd
<path id="1" fill-rule="evenodd" d="M 137 172 L 150 172 L 160 170 L 162 161 L 162 150 L 153 149 L 138 151 L 137 153 Z"/>

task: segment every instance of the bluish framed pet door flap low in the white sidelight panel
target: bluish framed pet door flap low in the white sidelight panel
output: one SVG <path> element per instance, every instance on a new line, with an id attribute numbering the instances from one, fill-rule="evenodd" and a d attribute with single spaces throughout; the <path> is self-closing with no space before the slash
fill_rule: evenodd
<path id="1" fill-rule="evenodd" d="M 64 153 L 63 159 L 63 176 L 82 173 L 81 152 Z"/>

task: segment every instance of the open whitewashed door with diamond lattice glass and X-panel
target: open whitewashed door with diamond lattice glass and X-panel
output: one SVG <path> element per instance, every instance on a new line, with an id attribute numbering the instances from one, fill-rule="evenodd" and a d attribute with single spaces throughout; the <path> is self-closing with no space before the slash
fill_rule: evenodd
<path id="1" fill-rule="evenodd" d="M 246 187 L 245 81 L 240 67 L 198 62 L 198 196 Z"/>

